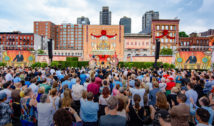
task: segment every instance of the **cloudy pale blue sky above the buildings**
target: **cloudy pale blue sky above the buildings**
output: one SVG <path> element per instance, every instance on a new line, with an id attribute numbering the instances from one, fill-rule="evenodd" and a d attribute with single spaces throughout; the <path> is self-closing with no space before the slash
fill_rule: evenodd
<path id="1" fill-rule="evenodd" d="M 112 24 L 123 16 L 132 18 L 132 32 L 142 28 L 142 15 L 159 11 L 161 19 L 180 19 L 180 31 L 214 29 L 214 0 L 0 0 L 0 32 L 33 32 L 33 21 L 76 23 L 80 16 L 99 24 L 99 11 L 109 6 Z"/>

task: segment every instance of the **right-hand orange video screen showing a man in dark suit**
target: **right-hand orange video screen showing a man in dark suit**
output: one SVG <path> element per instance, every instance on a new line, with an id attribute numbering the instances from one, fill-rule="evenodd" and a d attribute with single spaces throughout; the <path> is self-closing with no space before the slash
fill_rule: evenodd
<path id="1" fill-rule="evenodd" d="M 175 55 L 178 69 L 210 69 L 211 55 L 204 52 L 179 52 Z"/>

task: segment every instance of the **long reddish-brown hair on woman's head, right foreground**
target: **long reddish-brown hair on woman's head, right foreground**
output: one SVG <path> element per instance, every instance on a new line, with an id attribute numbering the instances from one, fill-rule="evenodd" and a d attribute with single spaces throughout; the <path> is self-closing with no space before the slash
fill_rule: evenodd
<path id="1" fill-rule="evenodd" d="M 156 93 L 156 106 L 160 109 L 168 109 L 168 103 L 166 95 L 163 92 Z"/>

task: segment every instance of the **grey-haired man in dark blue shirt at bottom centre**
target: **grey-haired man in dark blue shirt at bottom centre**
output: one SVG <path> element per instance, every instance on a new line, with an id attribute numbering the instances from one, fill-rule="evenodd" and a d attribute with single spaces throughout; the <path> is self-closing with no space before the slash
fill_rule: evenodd
<path id="1" fill-rule="evenodd" d="M 111 96 L 107 100 L 106 115 L 100 117 L 99 126 L 125 126 L 126 118 L 117 115 L 118 99 Z"/>

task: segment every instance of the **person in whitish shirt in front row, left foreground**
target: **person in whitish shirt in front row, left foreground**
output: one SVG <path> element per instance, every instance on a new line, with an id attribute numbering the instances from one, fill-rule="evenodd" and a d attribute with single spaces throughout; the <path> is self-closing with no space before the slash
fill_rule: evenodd
<path id="1" fill-rule="evenodd" d="M 53 104 L 47 94 L 40 97 L 40 103 L 37 104 L 38 126 L 50 126 L 53 123 L 53 114 L 55 113 L 55 99 Z"/>

